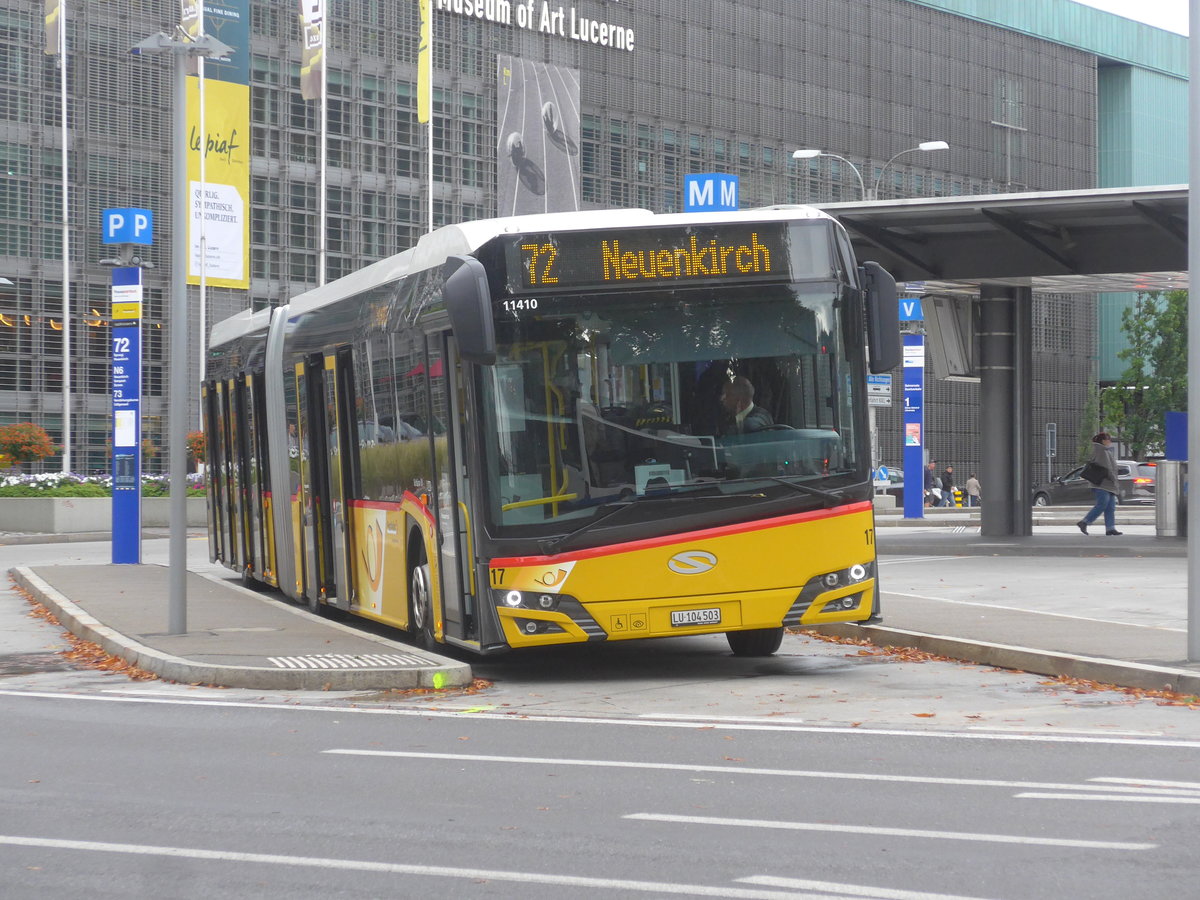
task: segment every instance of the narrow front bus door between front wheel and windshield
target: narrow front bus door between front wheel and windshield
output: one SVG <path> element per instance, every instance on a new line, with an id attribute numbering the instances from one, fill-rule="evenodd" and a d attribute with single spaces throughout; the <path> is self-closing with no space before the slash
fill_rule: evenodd
<path id="1" fill-rule="evenodd" d="M 446 637 L 466 641 L 476 637 L 470 476 L 466 467 L 466 461 L 470 458 L 466 443 L 468 407 L 455 340 L 449 335 L 431 338 L 428 359 L 433 407 L 431 428 L 434 422 L 444 424 L 442 433 L 433 432 L 443 628 Z"/>

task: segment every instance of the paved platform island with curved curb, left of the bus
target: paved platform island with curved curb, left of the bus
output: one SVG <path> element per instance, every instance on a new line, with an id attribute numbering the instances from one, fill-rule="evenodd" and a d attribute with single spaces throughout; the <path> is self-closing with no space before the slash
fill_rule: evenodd
<path id="1" fill-rule="evenodd" d="M 162 565 L 19 566 L 16 582 L 72 634 L 173 682 L 262 690 L 470 683 L 466 662 L 310 613 L 274 593 L 187 572 L 187 632 L 167 634 Z"/>

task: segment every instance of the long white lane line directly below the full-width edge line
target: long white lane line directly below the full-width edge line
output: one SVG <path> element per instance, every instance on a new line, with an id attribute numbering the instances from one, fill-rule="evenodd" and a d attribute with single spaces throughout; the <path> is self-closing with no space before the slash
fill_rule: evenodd
<path id="1" fill-rule="evenodd" d="M 330 750 L 322 750 L 323 754 L 331 754 L 337 756 L 382 756 L 392 757 L 401 760 L 440 760 L 444 762 L 499 762 L 508 766 L 511 764 L 528 764 L 528 766 L 580 766 L 583 768 L 596 769 L 596 768 L 608 768 L 608 769 L 652 769 L 652 770 L 666 770 L 666 772 L 688 772 L 688 773 L 718 773 L 721 775 L 772 775 L 775 778 L 828 778 L 838 779 L 844 781 L 894 781 L 898 784 L 908 785 L 946 785 L 950 787 L 1001 787 L 1004 790 L 1054 790 L 1054 791 L 1097 791 L 1105 793 L 1115 793 L 1121 791 L 1128 791 L 1130 794 L 1145 794 L 1146 790 L 1153 791 L 1154 788 L 1141 788 L 1136 786 L 1120 787 L 1116 785 L 1072 785 L 1072 784 L 1054 784 L 1044 781 L 1001 781 L 996 779 L 973 779 L 973 778 L 940 778 L 937 775 L 881 775 L 874 772 L 828 772 L 828 770 L 805 770 L 805 769 L 764 769 L 754 768 L 749 766 L 690 766 L 686 763 L 672 763 L 672 762 L 637 762 L 626 760 L 564 760 L 562 757 L 536 757 L 536 756 L 498 756 L 493 754 L 436 754 L 428 751 L 419 750 L 353 750 L 343 748 L 334 748 Z M 1177 793 L 1160 790 L 1159 793 Z"/>

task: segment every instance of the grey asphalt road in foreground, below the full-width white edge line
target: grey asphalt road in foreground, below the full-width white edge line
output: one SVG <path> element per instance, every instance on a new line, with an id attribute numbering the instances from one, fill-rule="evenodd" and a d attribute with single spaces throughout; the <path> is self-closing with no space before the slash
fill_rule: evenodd
<path id="1" fill-rule="evenodd" d="M 12 900 L 1127 899 L 1198 874 L 1195 742 L 29 692 L 0 715 Z"/>

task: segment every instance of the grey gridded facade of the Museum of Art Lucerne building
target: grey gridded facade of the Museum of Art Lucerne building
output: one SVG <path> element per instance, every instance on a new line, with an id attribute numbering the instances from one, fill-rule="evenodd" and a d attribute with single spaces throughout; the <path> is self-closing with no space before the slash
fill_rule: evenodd
<path id="1" fill-rule="evenodd" d="M 208 289 L 204 328 L 318 281 L 320 116 L 299 92 L 295 4 L 248 4 L 251 287 Z M 430 137 L 416 121 L 418 5 L 329 0 L 328 278 L 412 245 L 430 210 L 434 226 L 493 214 L 498 54 L 580 72 L 584 209 L 682 211 L 684 175 L 706 172 L 739 175 L 742 206 L 858 198 L 844 163 L 793 160 L 797 148 L 845 156 L 882 198 L 1098 184 L 1100 60 L 1078 47 L 910 0 L 690 0 L 670 13 L 646 0 L 566 6 L 629 29 L 634 49 L 434 13 L 430 185 Z M 100 242 L 100 210 L 109 206 L 148 206 L 160 222 L 146 253 L 157 268 L 145 278 L 143 410 L 146 437 L 164 445 L 170 71 L 128 48 L 178 19 L 179 5 L 70 2 L 67 12 L 73 462 L 107 469 L 109 272 L 98 260 L 109 254 Z M 13 282 L 0 286 L 0 421 L 34 420 L 58 438 L 58 61 L 42 53 L 41 4 L 0 0 L 0 275 Z M 952 149 L 907 154 L 884 170 L 895 154 L 931 139 Z M 202 305 L 191 290 L 194 379 Z M 1038 337 L 1034 350 L 1038 384 L 1052 385 L 1037 391 L 1046 409 L 1034 414 L 1036 430 L 1052 415 L 1068 446 L 1093 377 L 1093 301 L 1036 304 L 1037 320 L 1070 323 Z M 931 450 L 962 472 L 978 458 L 976 392 L 971 384 L 929 392 Z M 898 415 L 880 412 L 883 461 L 895 463 Z M 198 401 L 196 418 L 198 427 Z M 164 462 L 163 451 L 148 468 Z"/>

